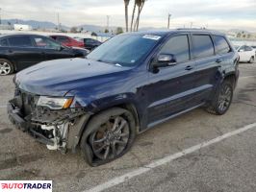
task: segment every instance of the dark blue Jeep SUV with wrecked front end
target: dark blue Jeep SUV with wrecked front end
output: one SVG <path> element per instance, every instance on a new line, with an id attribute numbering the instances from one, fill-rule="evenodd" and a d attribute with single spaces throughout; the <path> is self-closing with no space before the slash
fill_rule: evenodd
<path id="1" fill-rule="evenodd" d="M 124 155 L 138 133 L 193 108 L 225 113 L 238 61 L 218 32 L 119 35 L 87 59 L 45 61 L 17 73 L 8 112 L 48 149 L 80 147 L 97 166 Z"/>

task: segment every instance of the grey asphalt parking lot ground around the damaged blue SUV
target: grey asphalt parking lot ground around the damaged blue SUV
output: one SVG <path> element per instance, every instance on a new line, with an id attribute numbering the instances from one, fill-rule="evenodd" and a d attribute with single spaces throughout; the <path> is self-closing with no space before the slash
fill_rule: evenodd
<path id="1" fill-rule="evenodd" d="M 15 130 L 6 112 L 6 103 L 13 97 L 13 76 L 0 77 L 0 180 L 53 180 L 53 191 L 62 192 L 255 191 L 256 125 L 147 167 L 256 123 L 256 63 L 241 63 L 240 71 L 233 104 L 226 114 L 192 110 L 138 135 L 128 154 L 99 167 L 90 167 L 80 153 L 48 151 L 26 133 Z M 143 168 L 147 171 L 140 172 Z M 132 176 L 135 171 L 138 174 Z M 130 178 L 122 180 L 123 176 Z M 115 183 L 108 182 L 114 179 Z"/>

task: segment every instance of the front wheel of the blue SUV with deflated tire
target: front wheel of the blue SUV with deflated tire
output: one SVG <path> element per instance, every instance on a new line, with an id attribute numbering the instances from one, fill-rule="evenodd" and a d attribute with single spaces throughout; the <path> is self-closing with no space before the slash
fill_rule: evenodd
<path id="1" fill-rule="evenodd" d="M 99 166 L 123 156 L 136 136 L 133 114 L 124 108 L 110 108 L 90 120 L 80 141 L 82 155 L 90 166 Z"/>

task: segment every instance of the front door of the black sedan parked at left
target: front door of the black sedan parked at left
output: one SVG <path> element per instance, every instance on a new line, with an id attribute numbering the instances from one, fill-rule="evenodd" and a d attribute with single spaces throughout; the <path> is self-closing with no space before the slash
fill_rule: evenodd
<path id="1" fill-rule="evenodd" d="M 74 54 L 70 48 L 64 48 L 58 42 L 45 36 L 34 36 L 38 49 L 44 56 L 43 60 L 57 60 L 73 58 Z"/>

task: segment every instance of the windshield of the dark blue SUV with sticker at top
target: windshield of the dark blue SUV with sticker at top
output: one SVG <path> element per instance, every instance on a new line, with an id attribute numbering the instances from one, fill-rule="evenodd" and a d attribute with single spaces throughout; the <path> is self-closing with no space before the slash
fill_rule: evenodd
<path id="1" fill-rule="evenodd" d="M 93 50 L 87 58 L 120 66 L 135 66 L 157 44 L 161 36 L 115 36 Z"/>

